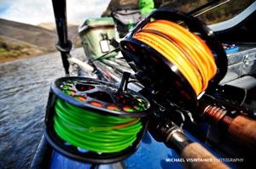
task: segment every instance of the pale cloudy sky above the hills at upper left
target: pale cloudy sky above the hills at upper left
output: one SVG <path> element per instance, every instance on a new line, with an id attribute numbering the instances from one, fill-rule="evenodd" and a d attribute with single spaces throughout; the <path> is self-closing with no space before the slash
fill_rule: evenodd
<path id="1" fill-rule="evenodd" d="M 60 0 L 57 0 L 60 1 Z M 30 25 L 55 22 L 51 0 L 0 0 L 0 18 Z M 67 0 L 67 22 L 101 17 L 110 0 Z"/>

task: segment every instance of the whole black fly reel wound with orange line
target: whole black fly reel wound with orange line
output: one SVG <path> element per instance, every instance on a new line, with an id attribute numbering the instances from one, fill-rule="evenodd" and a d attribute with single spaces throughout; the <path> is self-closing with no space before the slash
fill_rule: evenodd
<path id="1" fill-rule="evenodd" d="M 172 8 L 154 10 L 120 48 L 150 93 L 184 109 L 194 110 L 227 71 L 224 49 L 207 25 Z"/>

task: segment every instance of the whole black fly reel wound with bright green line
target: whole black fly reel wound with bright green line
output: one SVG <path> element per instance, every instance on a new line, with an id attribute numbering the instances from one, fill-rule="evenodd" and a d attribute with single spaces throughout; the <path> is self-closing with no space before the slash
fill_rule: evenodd
<path id="1" fill-rule="evenodd" d="M 122 161 L 134 153 L 148 123 L 149 103 L 126 88 L 125 75 L 119 87 L 86 77 L 53 82 L 44 128 L 49 144 L 68 158 L 92 164 Z"/>

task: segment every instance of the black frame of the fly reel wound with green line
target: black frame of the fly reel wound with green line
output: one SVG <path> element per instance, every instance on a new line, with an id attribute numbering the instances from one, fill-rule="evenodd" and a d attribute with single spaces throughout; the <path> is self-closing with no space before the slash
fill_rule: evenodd
<path id="1" fill-rule="evenodd" d="M 44 135 L 47 141 L 49 142 L 49 144 L 55 150 L 61 153 L 61 155 L 65 155 L 68 158 L 71 158 L 76 161 L 82 161 L 82 162 L 91 163 L 91 164 L 106 164 L 106 163 L 122 161 L 128 156 L 132 155 L 138 149 L 142 141 L 143 134 L 146 131 L 146 128 L 148 125 L 149 103 L 147 99 L 145 99 L 142 95 L 130 89 L 127 89 L 122 92 L 129 93 L 129 94 L 136 94 L 136 97 L 143 100 L 143 103 L 145 104 L 144 110 L 137 111 L 137 112 L 127 112 L 125 110 L 110 110 L 110 109 L 107 109 L 106 107 L 97 107 L 96 105 L 89 103 L 89 102 L 95 101 L 95 102 L 107 105 L 109 103 L 106 102 L 106 100 L 102 101 L 100 99 L 90 97 L 89 99 L 90 101 L 82 102 L 78 99 L 74 99 L 73 96 L 70 96 L 67 93 L 63 93 L 63 91 L 61 91 L 61 88 L 60 88 L 63 82 L 64 83 L 65 82 L 82 82 L 84 83 L 84 85 L 95 87 L 94 89 L 92 89 L 92 91 L 88 90 L 87 92 L 85 92 L 85 95 L 88 95 L 89 93 L 98 92 L 98 91 L 106 92 L 111 95 L 112 92 L 116 93 L 118 91 L 117 85 L 114 85 L 109 82 L 96 80 L 96 79 L 90 79 L 87 77 L 62 77 L 60 79 L 57 79 L 55 82 L 53 82 L 49 92 L 49 100 L 48 100 L 46 115 L 44 119 L 44 124 L 45 124 Z M 78 83 L 78 84 L 81 84 L 81 83 Z M 142 122 L 143 128 L 140 130 L 140 132 L 137 133 L 137 138 L 131 144 L 131 146 L 119 152 L 114 152 L 114 153 L 98 153 L 93 151 L 81 152 L 78 150 L 78 147 L 71 144 L 67 144 L 67 142 L 62 138 L 60 138 L 60 136 L 58 136 L 58 134 L 55 132 L 54 115 L 56 114 L 56 112 L 55 112 L 54 106 L 55 106 L 56 99 L 62 99 L 69 104 L 73 104 L 82 109 L 94 111 L 97 114 L 101 114 L 101 115 L 113 115 L 113 116 L 118 116 L 123 118 L 140 117 L 141 118 L 140 121 Z M 118 100 L 115 100 L 115 101 L 118 102 Z M 116 104 L 119 104 L 119 106 L 122 105 L 121 103 L 116 103 Z"/>

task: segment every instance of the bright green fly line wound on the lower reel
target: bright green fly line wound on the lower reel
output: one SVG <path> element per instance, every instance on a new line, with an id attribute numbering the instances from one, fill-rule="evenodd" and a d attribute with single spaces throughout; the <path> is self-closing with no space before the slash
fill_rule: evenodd
<path id="1" fill-rule="evenodd" d="M 137 139 L 140 118 L 101 115 L 56 99 L 55 132 L 73 146 L 98 153 L 119 152 Z"/>

